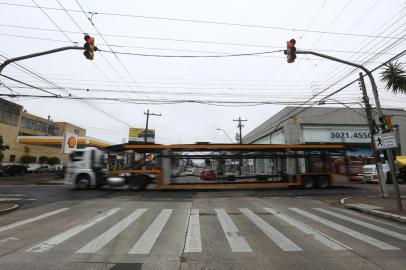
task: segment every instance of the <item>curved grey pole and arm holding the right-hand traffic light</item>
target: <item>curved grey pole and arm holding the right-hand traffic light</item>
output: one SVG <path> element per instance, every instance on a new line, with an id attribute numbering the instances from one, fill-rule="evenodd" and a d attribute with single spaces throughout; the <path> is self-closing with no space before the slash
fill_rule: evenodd
<path id="1" fill-rule="evenodd" d="M 384 116 L 383 116 L 383 111 L 382 111 L 382 108 L 381 108 L 381 104 L 379 102 L 378 89 L 376 87 L 375 79 L 372 76 L 371 71 L 369 71 L 363 65 L 359 65 L 359 64 L 356 64 L 356 63 L 352 63 L 352 62 L 345 61 L 345 60 L 342 60 L 342 59 L 339 59 L 339 58 L 336 58 L 336 57 L 333 57 L 333 56 L 329 56 L 329 55 L 325 55 L 325 54 L 321 54 L 321 53 L 317 53 L 317 52 L 313 52 L 313 51 L 298 51 L 297 50 L 296 54 L 311 54 L 311 55 L 315 55 L 315 56 L 318 56 L 318 57 L 321 57 L 321 58 L 326 58 L 326 59 L 329 59 L 329 60 L 332 60 L 332 61 L 340 62 L 340 63 L 346 64 L 346 65 L 349 65 L 349 66 L 353 66 L 353 67 L 357 67 L 359 69 L 362 69 L 367 74 L 369 80 L 371 81 L 372 93 L 374 94 L 375 105 L 376 105 L 376 109 L 377 109 L 378 115 L 379 115 L 379 121 L 380 121 L 381 127 L 384 125 L 384 123 L 383 123 Z M 325 97 L 325 98 L 327 98 L 327 97 Z M 388 156 L 390 174 L 391 174 L 391 178 L 392 178 L 392 182 L 393 182 L 393 188 L 395 190 L 395 196 L 396 196 L 396 201 L 397 201 L 397 204 L 398 204 L 398 209 L 399 209 L 399 211 L 403 211 L 402 201 L 401 201 L 400 192 L 399 192 L 399 186 L 398 186 L 398 182 L 397 182 L 397 179 L 396 179 L 395 160 L 393 158 L 392 150 L 391 149 L 386 149 L 386 155 Z M 379 162 L 378 162 L 378 164 L 379 164 Z M 380 166 L 382 168 L 382 164 L 380 164 Z M 379 170 L 378 170 L 378 172 L 379 172 Z M 382 182 L 380 182 L 380 184 L 382 185 L 381 188 L 383 188 L 384 184 Z"/>

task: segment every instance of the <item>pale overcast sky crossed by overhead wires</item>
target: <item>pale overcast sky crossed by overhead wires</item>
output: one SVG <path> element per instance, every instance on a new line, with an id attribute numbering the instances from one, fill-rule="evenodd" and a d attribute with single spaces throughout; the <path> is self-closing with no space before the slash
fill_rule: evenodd
<path id="1" fill-rule="evenodd" d="M 91 16 L 95 27 L 88 20 L 90 13 L 83 13 L 77 2 L 86 12 L 98 13 Z M 95 37 L 100 49 L 110 52 L 97 52 L 93 61 L 77 50 L 19 62 L 54 85 L 13 65 L 3 74 L 56 94 L 120 98 L 124 102 L 7 99 L 30 113 L 71 122 L 86 128 L 88 136 L 113 143 L 127 139 L 129 126 L 144 127 L 143 113 L 147 109 L 162 114 L 150 118 L 158 143 L 228 142 L 216 128 L 224 129 L 234 139 L 237 123 L 233 119 L 241 116 L 248 120 L 243 128 L 246 134 L 283 109 L 283 104 L 302 104 L 319 94 L 309 103 L 313 104 L 355 80 L 359 71 L 305 55 L 298 55 L 295 63 L 288 64 L 283 52 L 218 58 L 129 54 L 257 53 L 281 50 L 287 40 L 295 38 L 298 50 L 318 51 L 373 69 L 406 49 L 405 15 L 403 0 L 5 0 L 0 2 L 0 54 L 16 57 L 72 46 L 72 42 L 83 45 L 83 32 L 87 32 Z M 405 59 L 403 56 L 398 61 L 404 63 Z M 388 93 L 379 81 L 379 71 L 374 76 L 382 106 L 405 108 L 406 96 Z M 0 79 L 17 93 L 47 95 Z M 55 89 L 55 85 L 60 88 Z M 370 85 L 367 87 L 372 98 Z M 1 86 L 0 93 L 10 90 Z M 332 99 L 360 102 L 358 84 Z M 178 103 L 182 100 L 211 105 Z M 152 104 L 157 102 L 172 104 Z M 230 102 L 269 104 L 242 106 Z"/>

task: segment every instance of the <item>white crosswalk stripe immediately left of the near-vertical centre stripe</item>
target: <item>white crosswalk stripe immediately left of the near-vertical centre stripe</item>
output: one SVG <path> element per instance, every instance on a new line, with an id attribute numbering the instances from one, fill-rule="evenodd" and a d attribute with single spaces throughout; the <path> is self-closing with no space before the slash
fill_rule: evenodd
<path id="1" fill-rule="evenodd" d="M 128 254 L 148 254 L 165 227 L 172 211 L 172 209 L 163 209 Z"/>

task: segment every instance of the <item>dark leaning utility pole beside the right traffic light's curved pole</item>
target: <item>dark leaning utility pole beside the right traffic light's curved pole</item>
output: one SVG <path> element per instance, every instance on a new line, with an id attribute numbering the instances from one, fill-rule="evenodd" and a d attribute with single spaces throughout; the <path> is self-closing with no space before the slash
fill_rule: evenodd
<path id="1" fill-rule="evenodd" d="M 372 116 L 372 107 L 371 104 L 369 103 L 369 97 L 367 94 L 367 90 L 365 88 L 365 81 L 362 72 L 359 73 L 359 82 L 362 90 L 362 100 L 365 104 L 365 112 L 367 114 L 369 133 L 371 134 L 371 148 L 375 158 L 376 171 L 378 172 L 379 176 L 379 189 L 381 197 L 386 198 L 388 197 L 388 191 L 385 185 L 385 175 L 383 173 L 380 151 L 377 150 L 375 147 L 374 135 L 376 134 L 376 129 L 374 124 L 374 118 Z"/>

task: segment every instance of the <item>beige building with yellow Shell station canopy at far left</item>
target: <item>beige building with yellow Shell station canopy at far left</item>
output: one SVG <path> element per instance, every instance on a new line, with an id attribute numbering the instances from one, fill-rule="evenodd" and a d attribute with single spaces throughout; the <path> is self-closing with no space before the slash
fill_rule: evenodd
<path id="1" fill-rule="evenodd" d="M 0 99 L 0 136 L 9 146 L 4 151 L 3 163 L 19 163 L 21 157 L 30 155 L 34 162 L 40 156 L 58 157 L 62 163 L 68 154 L 62 152 L 64 134 L 77 135 L 77 147 L 105 147 L 110 143 L 87 137 L 86 129 L 66 122 L 54 122 L 28 113 L 21 105 Z"/>

